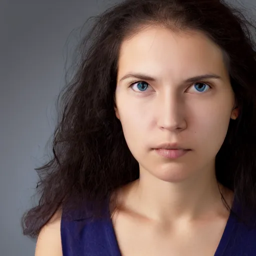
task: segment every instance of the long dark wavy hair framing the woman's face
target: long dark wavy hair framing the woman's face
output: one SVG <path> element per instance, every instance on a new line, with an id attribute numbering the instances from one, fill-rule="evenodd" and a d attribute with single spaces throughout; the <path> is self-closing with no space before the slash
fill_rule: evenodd
<path id="1" fill-rule="evenodd" d="M 40 199 L 22 217 L 25 235 L 37 236 L 63 205 L 76 208 L 92 200 L 96 216 L 104 198 L 139 177 L 114 112 L 117 60 L 125 38 L 155 24 L 201 31 L 222 49 L 239 116 L 230 120 L 216 155 L 216 178 L 243 209 L 256 211 L 254 21 L 219 0 L 125 0 L 94 17 L 78 45 L 75 73 L 57 99 L 52 158 L 36 168 Z"/>

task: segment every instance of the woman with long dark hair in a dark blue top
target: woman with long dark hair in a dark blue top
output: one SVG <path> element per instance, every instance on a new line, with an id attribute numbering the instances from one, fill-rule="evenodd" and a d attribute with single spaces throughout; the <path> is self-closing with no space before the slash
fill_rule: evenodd
<path id="1" fill-rule="evenodd" d="M 217 0 L 126 0 L 98 16 L 23 218 L 36 256 L 255 255 L 249 28 Z"/>

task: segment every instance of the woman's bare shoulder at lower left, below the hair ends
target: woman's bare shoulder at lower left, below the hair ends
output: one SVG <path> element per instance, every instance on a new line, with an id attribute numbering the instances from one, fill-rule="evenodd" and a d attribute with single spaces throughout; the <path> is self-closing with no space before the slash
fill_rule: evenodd
<path id="1" fill-rule="evenodd" d="M 62 211 L 59 209 L 50 221 L 41 229 L 35 247 L 35 256 L 62 256 L 60 221 Z"/>

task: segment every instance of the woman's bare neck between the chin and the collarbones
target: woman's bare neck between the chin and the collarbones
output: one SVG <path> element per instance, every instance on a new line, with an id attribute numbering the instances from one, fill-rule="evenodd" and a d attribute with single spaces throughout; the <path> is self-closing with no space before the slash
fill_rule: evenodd
<path id="1" fill-rule="evenodd" d="M 140 168 L 139 179 L 127 186 L 125 207 L 157 222 L 190 221 L 228 213 L 219 190 L 231 207 L 231 191 L 217 182 L 214 168 L 179 182 L 163 181 Z"/>

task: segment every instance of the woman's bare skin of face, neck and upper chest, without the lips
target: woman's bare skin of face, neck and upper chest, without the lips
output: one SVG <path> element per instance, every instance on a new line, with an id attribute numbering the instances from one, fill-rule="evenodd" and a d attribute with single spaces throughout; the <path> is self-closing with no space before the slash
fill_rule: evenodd
<path id="1" fill-rule="evenodd" d="M 187 81 L 205 74 L 218 78 Z M 221 49 L 198 31 L 147 27 L 122 42 L 116 83 L 116 117 L 140 173 L 119 190 L 118 218 L 113 215 L 122 254 L 156 255 L 160 246 L 161 255 L 193 255 L 181 250 L 187 240 L 193 248 L 198 242 L 195 255 L 213 255 L 229 215 L 215 178 L 215 156 L 230 118 L 238 115 Z M 164 158 L 152 148 L 165 142 L 191 150 Z M 232 191 L 219 187 L 231 206 Z M 170 237 L 176 242 L 170 244 Z"/>

